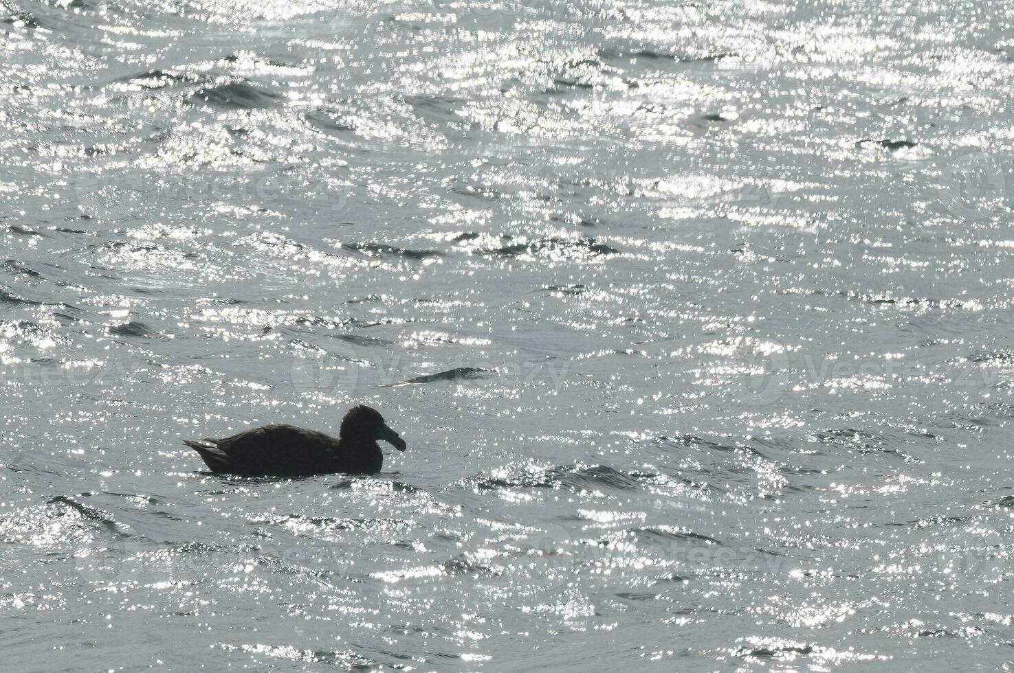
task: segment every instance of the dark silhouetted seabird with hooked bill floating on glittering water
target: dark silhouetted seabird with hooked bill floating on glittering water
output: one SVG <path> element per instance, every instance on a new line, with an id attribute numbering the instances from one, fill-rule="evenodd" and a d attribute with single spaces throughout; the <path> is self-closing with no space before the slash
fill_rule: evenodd
<path id="1" fill-rule="evenodd" d="M 244 476 L 373 474 L 383 466 L 377 440 L 408 448 L 380 413 L 358 404 L 342 419 L 338 439 L 295 426 L 255 428 L 225 439 L 185 440 L 212 472 Z"/>

